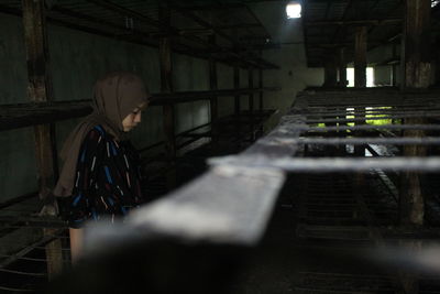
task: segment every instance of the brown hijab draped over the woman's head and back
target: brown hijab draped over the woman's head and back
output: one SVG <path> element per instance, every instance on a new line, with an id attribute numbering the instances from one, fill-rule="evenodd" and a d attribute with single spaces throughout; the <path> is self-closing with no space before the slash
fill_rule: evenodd
<path id="1" fill-rule="evenodd" d="M 64 161 L 54 195 L 72 195 L 76 163 L 84 138 L 97 124 L 101 124 L 116 140 L 124 138 L 122 120 L 142 102 L 148 101 L 148 92 L 142 79 L 127 72 L 117 72 L 98 79 L 95 85 L 91 107 L 94 112 L 86 117 L 69 134 L 63 145 Z"/>

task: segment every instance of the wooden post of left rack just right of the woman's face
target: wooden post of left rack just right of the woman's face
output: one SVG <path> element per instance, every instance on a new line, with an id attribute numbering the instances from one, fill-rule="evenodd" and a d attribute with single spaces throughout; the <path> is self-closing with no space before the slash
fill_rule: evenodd
<path id="1" fill-rule="evenodd" d="M 160 20 L 169 26 L 169 9 L 165 6 L 160 6 Z M 172 76 L 172 40 L 170 37 L 162 37 L 158 45 L 160 64 L 161 64 L 161 90 L 162 92 L 173 91 Z M 163 107 L 163 120 L 165 132 L 165 149 L 169 166 L 174 166 L 176 159 L 176 141 L 175 141 L 175 109 L 174 105 L 165 105 Z M 174 172 L 169 172 L 167 176 L 168 188 L 175 186 L 176 177 Z"/>

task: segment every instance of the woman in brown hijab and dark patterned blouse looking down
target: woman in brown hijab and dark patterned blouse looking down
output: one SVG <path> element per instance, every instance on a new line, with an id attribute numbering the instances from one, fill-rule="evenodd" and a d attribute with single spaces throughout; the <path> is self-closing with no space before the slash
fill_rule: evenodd
<path id="1" fill-rule="evenodd" d="M 80 252 L 86 220 L 124 216 L 145 202 L 140 183 L 139 154 L 127 132 L 141 122 L 148 94 L 141 78 L 111 73 L 95 86 L 94 112 L 67 138 L 64 166 L 55 186 L 61 214 L 70 227 L 72 259 Z"/>

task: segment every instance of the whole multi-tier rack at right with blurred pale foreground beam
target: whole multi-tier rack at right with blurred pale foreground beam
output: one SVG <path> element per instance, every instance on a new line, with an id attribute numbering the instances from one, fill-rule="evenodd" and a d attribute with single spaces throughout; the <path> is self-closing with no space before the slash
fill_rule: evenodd
<path id="1" fill-rule="evenodd" d="M 420 231 L 396 227 L 399 172 L 440 171 L 440 157 L 436 155 L 440 138 L 437 97 L 436 92 L 391 90 L 302 92 L 280 123 L 245 151 L 210 159 L 205 174 L 138 209 L 120 226 L 90 228 L 86 250 L 96 254 L 106 244 L 109 251 L 100 254 L 114 254 L 111 244 L 121 244 L 121 238 L 130 248 L 140 242 L 154 243 L 157 237 L 186 246 L 254 247 L 265 235 L 278 194 L 292 173 L 298 175 L 292 204 L 298 217 L 299 239 L 323 240 L 320 244 L 324 246 L 381 247 L 402 238 L 439 238 L 435 220 Z M 407 118 L 422 120 L 408 124 Z M 382 124 L 373 124 L 380 120 Z M 406 137 L 404 130 L 424 130 L 427 139 Z M 415 144 L 429 148 L 429 155 L 402 154 L 400 146 Z M 362 173 L 364 178 L 358 181 L 354 175 Z M 433 206 L 438 204 L 433 198 L 430 203 L 427 210 L 436 216 Z M 145 238 L 140 240 L 140 236 Z M 314 269 L 305 269 L 304 273 L 337 280 L 345 274 Z M 359 291 L 356 279 L 371 284 L 376 276 L 369 280 L 362 274 L 353 279 L 349 291 L 333 291 L 354 293 Z M 380 284 L 370 285 L 370 290 L 388 291 L 399 284 L 399 276 L 378 280 Z M 437 283 L 427 288 L 436 288 Z M 328 293 L 329 288 L 314 290 L 307 284 L 298 284 L 297 290 Z"/>

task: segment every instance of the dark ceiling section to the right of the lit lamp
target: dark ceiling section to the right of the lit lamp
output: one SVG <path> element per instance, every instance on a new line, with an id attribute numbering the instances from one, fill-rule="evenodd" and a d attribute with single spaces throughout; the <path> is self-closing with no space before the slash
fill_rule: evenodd
<path id="1" fill-rule="evenodd" d="M 433 2 L 433 0 L 432 0 Z M 433 39 L 438 35 L 437 6 L 432 9 Z M 304 34 L 308 66 L 322 67 L 329 54 L 345 48 L 353 61 L 356 28 L 367 26 L 367 51 L 400 42 L 404 0 L 304 0 Z"/>

